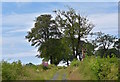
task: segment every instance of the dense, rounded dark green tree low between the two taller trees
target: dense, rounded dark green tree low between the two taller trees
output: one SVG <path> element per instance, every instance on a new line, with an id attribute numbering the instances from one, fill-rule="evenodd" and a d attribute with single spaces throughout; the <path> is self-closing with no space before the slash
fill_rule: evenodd
<path id="1" fill-rule="evenodd" d="M 66 55 L 66 48 L 61 40 L 62 39 L 49 39 L 43 43 L 39 49 L 41 55 L 38 55 L 38 57 L 46 58 L 47 61 L 50 59 L 49 57 L 52 57 L 52 64 L 58 65 Z"/>

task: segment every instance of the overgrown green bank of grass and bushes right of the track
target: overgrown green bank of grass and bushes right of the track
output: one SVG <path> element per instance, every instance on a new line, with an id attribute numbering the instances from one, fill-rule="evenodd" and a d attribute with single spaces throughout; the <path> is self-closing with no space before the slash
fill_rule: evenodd
<path id="1" fill-rule="evenodd" d="M 79 76 L 75 79 L 81 80 L 117 80 L 118 79 L 118 58 L 100 58 L 87 56 L 84 61 L 74 60 L 67 68 L 68 79 L 71 76 Z M 72 75 L 71 75 L 72 74 Z M 74 79 L 72 77 L 72 79 Z"/>

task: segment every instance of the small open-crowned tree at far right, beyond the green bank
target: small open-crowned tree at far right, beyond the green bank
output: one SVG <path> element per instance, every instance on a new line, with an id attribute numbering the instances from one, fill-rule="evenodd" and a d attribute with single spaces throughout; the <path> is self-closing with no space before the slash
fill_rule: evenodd
<path id="1" fill-rule="evenodd" d="M 92 35 L 97 36 L 94 40 L 95 45 L 97 45 L 98 51 L 101 55 L 101 57 L 108 55 L 108 50 L 112 47 L 112 45 L 115 43 L 115 37 L 109 34 L 104 34 L 102 32 L 97 32 Z"/>

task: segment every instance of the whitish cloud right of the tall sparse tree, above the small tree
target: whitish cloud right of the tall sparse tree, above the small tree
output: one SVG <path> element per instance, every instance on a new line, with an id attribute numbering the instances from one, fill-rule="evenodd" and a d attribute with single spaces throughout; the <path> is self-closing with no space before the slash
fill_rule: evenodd
<path id="1" fill-rule="evenodd" d="M 110 13 L 110 14 L 93 14 L 89 16 L 90 20 L 95 27 L 93 31 L 102 31 L 105 33 L 114 33 L 117 35 L 118 32 L 118 14 Z"/>

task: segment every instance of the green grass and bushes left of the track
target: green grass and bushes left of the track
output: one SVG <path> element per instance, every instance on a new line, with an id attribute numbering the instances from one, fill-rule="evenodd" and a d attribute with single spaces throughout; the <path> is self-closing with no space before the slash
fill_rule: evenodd
<path id="1" fill-rule="evenodd" d="M 22 65 L 20 61 L 8 63 L 2 61 L 3 80 L 50 80 L 58 68 L 49 65 L 47 70 L 42 65 Z"/>

